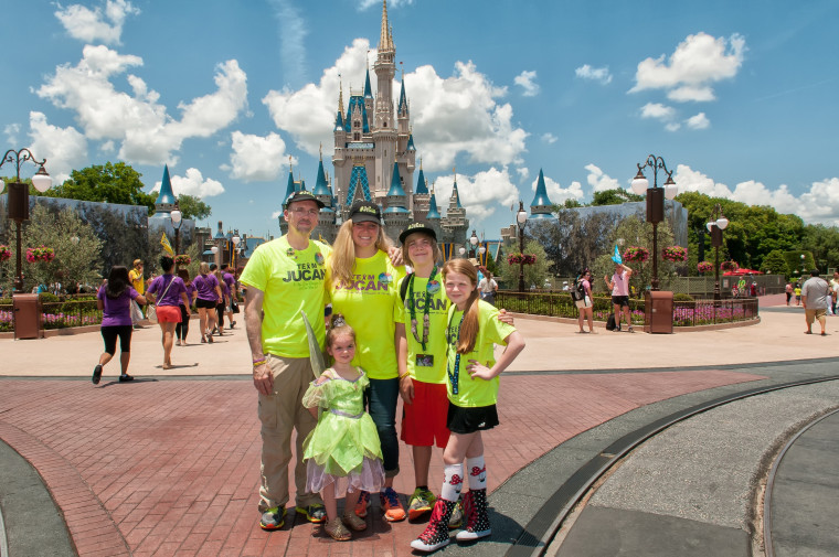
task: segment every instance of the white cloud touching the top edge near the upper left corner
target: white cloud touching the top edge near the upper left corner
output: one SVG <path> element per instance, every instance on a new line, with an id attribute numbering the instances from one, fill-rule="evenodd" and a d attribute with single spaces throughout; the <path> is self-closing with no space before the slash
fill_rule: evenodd
<path id="1" fill-rule="evenodd" d="M 104 12 L 100 7 L 89 9 L 72 4 L 65 9 L 59 7 L 55 17 L 73 39 L 86 43 L 119 44 L 126 18 L 139 13 L 140 10 L 131 6 L 131 2 L 107 0 Z"/>

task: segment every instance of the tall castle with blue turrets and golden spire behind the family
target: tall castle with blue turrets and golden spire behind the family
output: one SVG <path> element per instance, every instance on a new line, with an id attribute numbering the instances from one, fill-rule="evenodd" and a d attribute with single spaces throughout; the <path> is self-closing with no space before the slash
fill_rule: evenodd
<path id="1" fill-rule="evenodd" d="M 437 240 L 444 250 L 455 253 L 456 248 L 466 245 L 469 228 L 457 190 L 457 174 L 446 215 L 442 216 L 434 185 L 428 186 L 423 173 L 422 160 L 414 176 L 416 147 L 404 76 L 399 103 L 394 107 L 396 47 L 392 32 L 387 23 L 387 2 L 384 0 L 379 54 L 373 64 L 375 96 L 370 85 L 370 69 L 367 71 L 364 89 L 350 90 L 348 105 L 344 105 L 343 87 L 339 88 L 333 128 L 333 176 L 330 180 L 323 170 L 322 153 L 315 188 L 307 188 L 302 179 L 295 180 L 294 169 L 290 169 L 283 204 L 295 191 L 311 191 L 326 204 L 320 212 L 315 236 L 332 243 L 341 223 L 348 218 L 350 206 L 355 201 L 372 201 L 382 207 L 384 232 L 392 239 L 399 237 L 408 223 L 424 221 L 437 232 Z M 283 216 L 279 217 L 279 227 L 283 234 L 288 229 Z"/>

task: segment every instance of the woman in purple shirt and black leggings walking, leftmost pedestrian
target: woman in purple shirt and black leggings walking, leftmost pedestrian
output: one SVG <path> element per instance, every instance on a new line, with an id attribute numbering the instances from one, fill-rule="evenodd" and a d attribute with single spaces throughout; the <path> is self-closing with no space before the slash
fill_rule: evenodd
<path id="1" fill-rule="evenodd" d="M 119 364 L 121 373 L 119 383 L 132 381 L 128 375 L 128 361 L 131 358 L 131 300 L 145 304 L 146 298 L 131 287 L 128 269 L 123 266 L 111 267 L 108 280 L 96 293 L 96 306 L 102 311 L 102 339 L 105 341 L 105 352 L 99 356 L 99 363 L 93 368 L 94 385 L 102 379 L 102 367 L 110 362 L 117 351 L 119 339 Z"/>

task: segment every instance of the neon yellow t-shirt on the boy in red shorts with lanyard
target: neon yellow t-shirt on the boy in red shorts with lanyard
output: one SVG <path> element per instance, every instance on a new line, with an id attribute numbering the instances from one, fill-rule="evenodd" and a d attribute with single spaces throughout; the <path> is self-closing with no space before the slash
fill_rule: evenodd
<path id="1" fill-rule="evenodd" d="M 402 282 L 410 280 L 410 275 L 400 280 L 396 291 L 402 291 Z M 427 289 L 427 290 L 426 290 Z M 431 288 L 427 278 L 414 278 L 414 297 L 411 289 L 405 290 L 405 302 L 400 297 L 397 301 L 397 322 L 405 324 L 407 338 L 407 371 L 411 377 L 423 383 L 446 383 L 446 317 L 448 315 L 448 298 L 443 288 L 442 277 L 437 272 Z M 416 306 L 416 334 L 423 338 L 423 315 L 425 314 L 425 298 L 428 296 L 428 342 L 425 350 L 414 333 L 411 332 L 411 304 Z M 417 365 L 417 363 L 420 365 Z"/>

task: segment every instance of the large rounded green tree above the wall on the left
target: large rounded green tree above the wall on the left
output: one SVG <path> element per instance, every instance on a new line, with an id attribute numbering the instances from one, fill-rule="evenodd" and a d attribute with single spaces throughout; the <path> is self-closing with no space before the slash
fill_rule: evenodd
<path id="1" fill-rule="evenodd" d="M 52 197 L 146 205 L 149 215 L 155 213 L 156 197 L 142 191 L 140 174 L 125 162 L 106 162 L 74 170 L 70 179 L 46 192 Z"/>

